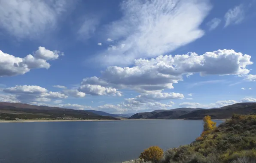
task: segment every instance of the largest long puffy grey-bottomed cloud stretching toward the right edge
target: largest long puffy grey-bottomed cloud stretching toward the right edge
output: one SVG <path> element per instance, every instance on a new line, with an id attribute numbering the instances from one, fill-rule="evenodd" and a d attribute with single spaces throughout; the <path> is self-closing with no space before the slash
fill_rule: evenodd
<path id="1" fill-rule="evenodd" d="M 190 52 L 149 60 L 140 58 L 134 61 L 133 67 L 108 66 L 100 78 L 85 78 L 82 85 L 129 88 L 143 93 L 162 91 L 174 88 L 173 84 L 182 81 L 183 75 L 246 75 L 250 72 L 247 66 L 253 64 L 250 58 L 250 55 L 226 49 L 203 55 Z"/>

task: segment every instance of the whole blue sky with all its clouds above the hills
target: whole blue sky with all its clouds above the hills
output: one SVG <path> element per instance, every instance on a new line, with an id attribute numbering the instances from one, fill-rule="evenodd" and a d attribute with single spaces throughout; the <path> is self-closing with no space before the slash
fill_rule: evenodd
<path id="1" fill-rule="evenodd" d="M 256 102 L 256 0 L 0 0 L 0 102 L 109 113 Z"/>

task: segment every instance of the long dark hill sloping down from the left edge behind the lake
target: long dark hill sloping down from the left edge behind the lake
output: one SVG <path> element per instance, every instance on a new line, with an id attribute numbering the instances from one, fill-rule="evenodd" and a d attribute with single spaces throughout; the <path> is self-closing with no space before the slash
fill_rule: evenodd
<path id="1" fill-rule="evenodd" d="M 0 102 L 0 119 L 100 119 L 119 120 L 111 116 L 102 116 L 84 110 L 64 109 L 49 106 L 34 106 L 24 103 Z"/>

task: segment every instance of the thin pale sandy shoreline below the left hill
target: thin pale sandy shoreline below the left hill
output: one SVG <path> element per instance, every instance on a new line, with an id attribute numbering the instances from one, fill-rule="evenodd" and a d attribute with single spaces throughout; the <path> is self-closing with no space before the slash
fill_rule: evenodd
<path id="1" fill-rule="evenodd" d="M 18 121 L 4 121 L 0 120 L 0 123 L 26 123 L 26 122 L 79 122 L 79 121 L 120 121 L 120 120 L 18 120 Z"/>

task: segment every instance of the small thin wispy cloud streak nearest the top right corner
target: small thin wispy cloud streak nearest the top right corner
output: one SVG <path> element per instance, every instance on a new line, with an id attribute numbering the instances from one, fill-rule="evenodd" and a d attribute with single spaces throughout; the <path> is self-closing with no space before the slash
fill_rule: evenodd
<path id="1" fill-rule="evenodd" d="M 229 11 L 224 16 L 226 20 L 225 27 L 231 24 L 239 24 L 244 20 L 244 6 L 239 5 L 235 6 L 233 9 L 229 9 Z"/>

